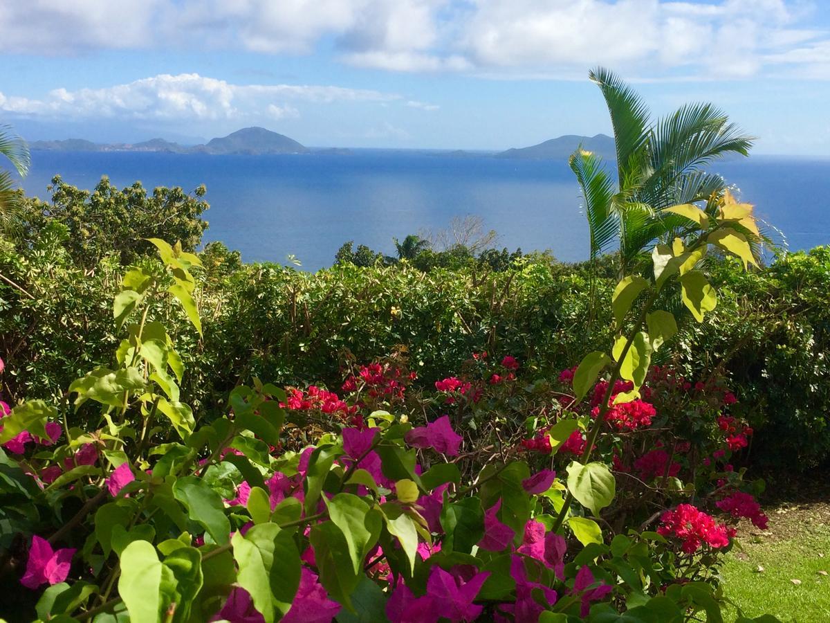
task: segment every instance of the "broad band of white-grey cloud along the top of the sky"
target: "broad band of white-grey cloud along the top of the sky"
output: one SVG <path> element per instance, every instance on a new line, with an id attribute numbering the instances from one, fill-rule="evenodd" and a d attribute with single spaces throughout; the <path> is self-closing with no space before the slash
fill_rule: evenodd
<path id="1" fill-rule="evenodd" d="M 582 77 L 830 76 L 804 0 L 27 0 L 0 3 L 0 50 L 331 52 L 388 71 Z M 186 104 L 183 104 L 186 105 Z"/>

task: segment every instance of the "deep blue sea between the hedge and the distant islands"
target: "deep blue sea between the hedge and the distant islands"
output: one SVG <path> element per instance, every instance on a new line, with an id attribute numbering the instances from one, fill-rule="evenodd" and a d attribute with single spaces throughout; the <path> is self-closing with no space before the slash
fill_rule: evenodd
<path id="1" fill-rule="evenodd" d="M 830 243 L 830 158 L 753 156 L 711 168 L 736 184 L 759 217 L 779 228 L 789 248 Z M 510 249 L 549 249 L 556 258 L 587 257 L 579 189 L 566 163 L 457 157 L 434 152 L 354 150 L 351 155 L 173 155 L 134 152 L 32 153 L 27 194 L 46 199 L 61 174 L 89 189 L 109 175 L 120 186 L 140 180 L 194 189 L 207 185 L 206 240 L 221 240 L 247 262 L 305 270 L 330 266 L 341 244 L 393 254 L 393 237 L 440 229 L 474 214 Z"/>

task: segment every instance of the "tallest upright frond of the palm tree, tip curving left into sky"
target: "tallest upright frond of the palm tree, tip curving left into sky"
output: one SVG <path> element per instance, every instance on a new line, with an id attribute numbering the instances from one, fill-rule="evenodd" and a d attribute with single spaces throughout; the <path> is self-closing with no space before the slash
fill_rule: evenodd
<path id="1" fill-rule="evenodd" d="M 619 182 L 622 185 L 632 157 L 637 159 L 637 152 L 647 145 L 651 113 L 641 97 L 613 71 L 597 67 L 588 72 L 588 77 L 597 83 L 608 105 L 617 148 Z"/>

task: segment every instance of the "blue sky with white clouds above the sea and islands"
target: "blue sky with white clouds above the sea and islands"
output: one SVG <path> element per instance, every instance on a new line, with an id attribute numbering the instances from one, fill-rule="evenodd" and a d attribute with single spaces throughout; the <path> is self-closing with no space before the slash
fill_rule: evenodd
<path id="1" fill-rule="evenodd" d="M 830 2 L 0 0 L 27 139 L 500 150 L 608 133 L 601 64 L 655 115 L 713 101 L 755 153 L 830 155 Z"/>

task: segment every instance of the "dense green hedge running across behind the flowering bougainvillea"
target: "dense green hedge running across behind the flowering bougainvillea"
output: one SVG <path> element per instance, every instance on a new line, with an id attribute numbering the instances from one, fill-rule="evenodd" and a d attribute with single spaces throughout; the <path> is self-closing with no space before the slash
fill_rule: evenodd
<path id="1" fill-rule="evenodd" d="M 0 352 L 14 398 L 60 395 L 83 370 L 107 363 L 115 346 L 110 305 L 119 262 L 76 267 L 60 231 L 49 235 L 26 253 L 0 248 L 0 273 L 19 286 L 0 284 Z M 584 265 L 522 259 L 503 272 L 422 272 L 406 263 L 345 264 L 310 274 L 245 265 L 217 244 L 202 256 L 204 340 L 175 310 L 159 313 L 188 359 L 191 386 L 183 390 L 208 417 L 254 375 L 337 389 L 347 362 L 400 352 L 431 385 L 475 351 L 510 354 L 551 375 L 608 343 L 607 330 L 593 328 L 610 323 L 590 312 Z M 730 375 L 742 415 L 757 429 L 756 461 L 818 464 L 830 456 L 830 250 L 789 254 L 759 272 L 744 274 L 731 262 L 711 270 L 720 292 L 714 320 L 683 324 L 668 349 L 677 353 L 672 363 L 691 376 Z M 608 298 L 613 285 L 597 279 L 595 296 Z"/>

